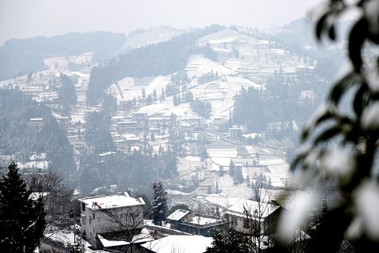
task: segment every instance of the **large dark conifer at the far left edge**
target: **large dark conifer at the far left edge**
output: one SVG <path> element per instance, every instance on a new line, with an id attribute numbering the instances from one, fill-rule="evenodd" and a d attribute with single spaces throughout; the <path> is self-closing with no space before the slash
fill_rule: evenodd
<path id="1" fill-rule="evenodd" d="M 0 249 L 33 252 L 45 227 L 42 200 L 29 199 L 31 190 L 26 190 L 15 163 L 8 170 L 0 180 Z"/>

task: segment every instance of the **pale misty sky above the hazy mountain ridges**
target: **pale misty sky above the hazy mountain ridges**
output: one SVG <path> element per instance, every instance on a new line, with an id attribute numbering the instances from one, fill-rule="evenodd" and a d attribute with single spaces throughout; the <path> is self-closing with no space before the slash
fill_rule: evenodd
<path id="1" fill-rule="evenodd" d="M 0 0 L 0 45 L 9 38 L 71 31 L 128 33 L 136 28 L 212 23 L 282 25 L 321 0 Z"/>

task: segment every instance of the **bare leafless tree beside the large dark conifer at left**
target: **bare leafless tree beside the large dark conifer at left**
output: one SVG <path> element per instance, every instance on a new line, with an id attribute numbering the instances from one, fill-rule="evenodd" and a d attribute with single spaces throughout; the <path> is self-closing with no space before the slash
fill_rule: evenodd
<path id="1" fill-rule="evenodd" d="M 57 233 L 58 227 L 69 227 L 69 216 L 74 210 L 73 190 L 63 185 L 62 178 L 52 171 L 31 173 L 26 181 L 34 197 L 41 197 L 46 213 L 44 239 L 40 242 L 42 244 Z"/>

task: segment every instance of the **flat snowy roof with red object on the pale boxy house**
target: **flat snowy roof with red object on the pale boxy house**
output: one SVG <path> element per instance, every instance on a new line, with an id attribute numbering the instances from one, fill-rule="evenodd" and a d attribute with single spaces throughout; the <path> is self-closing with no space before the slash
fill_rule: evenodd
<path id="1" fill-rule="evenodd" d="M 142 198 L 132 198 L 127 192 L 118 193 L 113 196 L 94 196 L 79 199 L 79 201 L 86 204 L 86 207 L 92 210 L 106 209 L 106 208 L 120 208 L 145 205 L 145 201 Z M 94 205 L 96 203 L 96 205 Z"/>

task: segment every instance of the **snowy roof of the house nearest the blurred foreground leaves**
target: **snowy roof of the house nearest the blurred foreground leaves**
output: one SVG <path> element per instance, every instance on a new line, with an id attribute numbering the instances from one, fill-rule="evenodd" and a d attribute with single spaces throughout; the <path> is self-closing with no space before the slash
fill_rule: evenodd
<path id="1" fill-rule="evenodd" d="M 229 207 L 226 210 L 226 214 L 246 218 L 246 214 L 244 213 L 245 208 L 250 214 L 254 214 L 255 211 L 260 210 L 259 216 L 261 216 L 261 218 L 266 218 L 267 216 L 272 214 L 275 210 L 280 208 L 280 206 L 271 205 L 269 203 L 263 203 L 263 202 L 258 203 L 256 201 L 251 201 L 251 200 L 241 200 L 238 203 L 234 204 L 233 206 Z"/>

